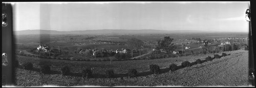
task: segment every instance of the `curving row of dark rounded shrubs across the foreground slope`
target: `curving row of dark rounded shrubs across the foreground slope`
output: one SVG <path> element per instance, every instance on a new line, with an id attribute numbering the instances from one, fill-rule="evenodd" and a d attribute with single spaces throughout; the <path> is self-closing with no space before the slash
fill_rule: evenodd
<path id="1" fill-rule="evenodd" d="M 230 54 L 222 53 L 222 56 L 226 56 L 226 55 L 230 55 Z M 206 61 L 212 61 L 214 58 L 221 58 L 222 56 L 219 55 L 219 54 L 215 54 L 213 58 L 211 56 L 208 56 L 208 57 L 206 57 Z M 193 63 L 185 61 L 185 62 L 181 63 L 181 67 L 185 68 L 185 67 L 190 67 L 190 66 L 193 66 L 193 65 L 196 65 L 196 64 L 202 64 L 202 61 L 200 59 L 196 60 Z M 23 68 L 26 69 L 26 70 L 33 70 L 33 64 L 32 63 L 25 63 Z M 50 66 L 41 65 L 40 66 L 40 73 L 50 74 L 51 73 L 50 69 L 51 69 Z M 179 69 L 179 67 L 176 64 L 169 65 L 169 70 L 170 71 L 176 71 L 178 69 Z M 152 64 L 152 65 L 150 65 L 150 72 L 153 73 L 153 74 L 159 74 L 160 73 L 160 67 L 156 64 Z M 129 69 L 127 74 L 128 74 L 129 77 L 136 77 L 138 72 L 137 72 L 136 69 Z M 65 67 L 61 68 L 61 75 L 71 75 L 70 68 L 68 66 L 65 66 Z M 114 70 L 107 70 L 105 72 L 105 76 L 106 76 L 106 78 L 114 77 Z M 93 76 L 92 76 L 91 69 L 89 69 L 89 68 L 84 69 L 82 71 L 82 77 L 83 78 L 92 78 Z"/>

